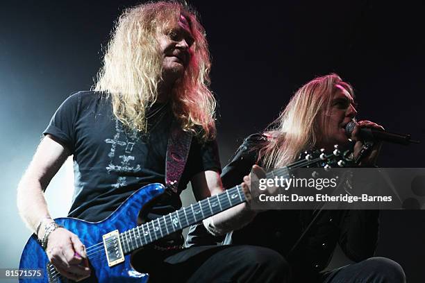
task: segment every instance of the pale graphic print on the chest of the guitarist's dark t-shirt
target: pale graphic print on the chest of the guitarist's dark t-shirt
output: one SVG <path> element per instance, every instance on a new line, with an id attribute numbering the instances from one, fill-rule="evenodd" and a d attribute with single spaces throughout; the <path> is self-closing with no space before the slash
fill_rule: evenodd
<path id="1" fill-rule="evenodd" d="M 126 132 L 122 127 L 122 123 L 115 119 L 115 130 L 116 133 L 113 139 L 105 139 L 106 144 L 111 144 L 110 153 L 110 162 L 106 166 L 108 173 L 110 172 L 126 172 L 126 173 L 137 173 L 141 170 L 140 164 L 137 164 L 138 161 L 135 159 L 134 155 L 131 155 L 133 151 L 133 146 L 135 143 L 140 141 L 138 137 L 138 132 L 132 130 L 131 132 Z M 114 157 L 116 151 L 122 148 L 124 154 L 119 155 L 120 164 L 114 164 Z M 126 186 L 126 177 L 119 176 L 117 178 L 117 183 L 113 184 L 112 187 L 119 188 Z"/>

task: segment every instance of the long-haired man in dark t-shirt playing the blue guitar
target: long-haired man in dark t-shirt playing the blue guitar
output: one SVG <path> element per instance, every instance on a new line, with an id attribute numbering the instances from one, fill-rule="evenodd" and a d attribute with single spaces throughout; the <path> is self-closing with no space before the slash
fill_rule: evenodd
<path id="1" fill-rule="evenodd" d="M 223 191 L 209 71 L 206 35 L 188 7 L 150 2 L 119 17 L 94 89 L 73 94 L 60 105 L 18 187 L 22 218 L 63 276 L 90 276 L 90 268 L 82 264 L 87 257 L 83 243 L 56 225 L 44 200 L 44 190 L 69 155 L 74 156 L 75 173 L 69 216 L 85 221 L 107 218 L 144 185 L 165 183 L 167 146 L 174 132 L 189 140 L 188 148 L 170 154 L 177 161 L 187 156 L 184 170 L 144 220 L 179 209 L 179 193 L 189 181 L 198 200 Z M 238 223 L 231 221 L 235 215 Z M 205 223 L 211 231 L 226 232 L 252 216 L 242 204 Z M 273 250 L 184 250 L 182 243 L 181 233 L 171 234 L 147 248 L 151 257 L 136 254 L 132 264 L 153 282 L 276 282 L 282 277 L 284 261 Z"/>

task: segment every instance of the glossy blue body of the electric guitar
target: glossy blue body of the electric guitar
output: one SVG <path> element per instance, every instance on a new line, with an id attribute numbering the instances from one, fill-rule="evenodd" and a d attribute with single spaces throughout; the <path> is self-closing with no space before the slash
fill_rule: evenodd
<path id="1" fill-rule="evenodd" d="M 103 234 L 113 230 L 124 232 L 135 228 L 138 223 L 138 214 L 142 207 L 149 203 L 153 198 L 160 196 L 165 191 L 161 184 L 151 184 L 138 189 L 128 199 L 120 205 L 113 214 L 103 221 L 92 223 L 77 218 L 57 218 L 56 223 L 63 225 L 67 230 L 78 236 L 85 245 L 88 252 L 88 260 L 92 275 L 81 282 L 139 282 L 144 283 L 148 280 L 148 275 L 138 273 L 130 264 L 131 255 L 125 255 L 124 262 L 109 267 L 105 250 L 103 249 Z M 97 245 L 101 243 L 100 245 Z M 96 247 L 93 247 L 97 245 Z M 92 247 L 92 248 L 90 248 Z M 35 235 L 26 243 L 22 252 L 19 269 L 42 269 L 43 278 L 37 282 L 69 282 L 65 277 L 53 275 L 53 280 L 49 281 L 49 272 L 51 268 L 46 252 L 37 240 Z M 55 272 L 57 273 L 57 272 Z M 34 282 L 34 278 L 20 278 L 19 282 Z"/>

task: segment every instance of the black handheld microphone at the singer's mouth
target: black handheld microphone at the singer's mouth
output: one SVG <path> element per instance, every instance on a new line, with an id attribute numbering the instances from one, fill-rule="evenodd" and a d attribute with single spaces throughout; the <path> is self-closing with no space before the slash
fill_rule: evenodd
<path id="1" fill-rule="evenodd" d="M 351 136 L 355 126 L 355 121 L 347 123 L 345 126 L 347 135 Z M 403 144 L 404 146 L 410 143 L 419 144 L 419 141 L 410 139 L 410 135 L 396 134 L 395 132 L 387 132 L 376 128 L 360 128 L 360 137 L 365 141 L 387 141 L 393 144 Z"/>

